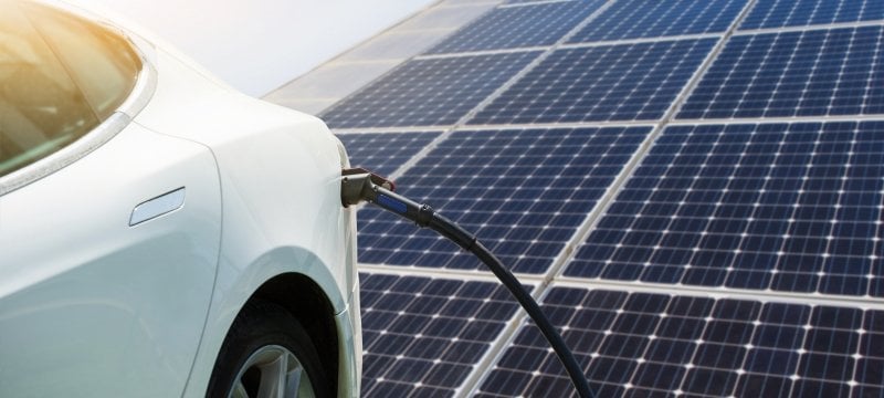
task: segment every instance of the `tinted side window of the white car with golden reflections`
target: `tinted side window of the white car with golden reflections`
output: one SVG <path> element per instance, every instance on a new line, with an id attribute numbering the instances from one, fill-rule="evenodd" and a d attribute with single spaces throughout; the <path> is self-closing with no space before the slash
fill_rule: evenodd
<path id="1" fill-rule="evenodd" d="M 65 11 L 0 0 L 0 177 L 88 134 L 131 93 L 140 57 Z"/>

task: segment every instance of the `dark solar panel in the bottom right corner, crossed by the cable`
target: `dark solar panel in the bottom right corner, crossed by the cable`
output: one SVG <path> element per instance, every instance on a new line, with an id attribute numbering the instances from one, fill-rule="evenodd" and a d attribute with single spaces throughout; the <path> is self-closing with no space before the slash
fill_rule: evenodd
<path id="1" fill-rule="evenodd" d="M 555 287 L 550 322 L 600 397 L 880 397 L 884 312 Z M 534 324 L 477 397 L 575 397 Z"/>

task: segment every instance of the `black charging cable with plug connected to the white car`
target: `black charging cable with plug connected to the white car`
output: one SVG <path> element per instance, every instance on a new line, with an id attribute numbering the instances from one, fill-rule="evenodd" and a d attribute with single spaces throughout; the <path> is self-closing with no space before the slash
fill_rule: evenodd
<path id="1" fill-rule="evenodd" d="M 594 397 L 592 390 L 589 388 L 583 375 L 583 369 L 573 354 L 565 344 L 561 335 L 556 331 L 549 320 L 546 318 L 540 306 L 528 294 L 522 283 L 518 282 L 516 276 L 507 270 L 504 264 L 488 249 L 485 248 L 476 237 L 467 232 L 456 223 L 448 218 L 436 213 L 427 205 L 417 203 L 401 195 L 393 192 L 396 188 L 392 181 L 389 181 L 373 172 L 366 169 L 354 168 L 343 170 L 343 178 L 340 184 L 340 201 L 344 207 L 357 205 L 362 200 L 373 203 L 381 209 L 397 213 L 406 219 L 409 219 L 421 228 L 430 228 L 439 232 L 441 235 L 457 243 L 464 250 L 475 254 L 487 265 L 491 271 L 497 276 L 498 280 L 509 290 L 509 293 L 522 304 L 528 316 L 534 320 L 537 327 L 544 334 L 549 345 L 558 355 L 565 369 L 571 377 L 577 392 L 580 397 Z"/>

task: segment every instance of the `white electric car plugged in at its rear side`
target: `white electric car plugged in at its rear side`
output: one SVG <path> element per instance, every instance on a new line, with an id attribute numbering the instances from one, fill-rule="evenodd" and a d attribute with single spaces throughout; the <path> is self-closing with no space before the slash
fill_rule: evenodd
<path id="1" fill-rule="evenodd" d="M 0 397 L 357 396 L 347 161 L 149 33 L 0 0 Z"/>

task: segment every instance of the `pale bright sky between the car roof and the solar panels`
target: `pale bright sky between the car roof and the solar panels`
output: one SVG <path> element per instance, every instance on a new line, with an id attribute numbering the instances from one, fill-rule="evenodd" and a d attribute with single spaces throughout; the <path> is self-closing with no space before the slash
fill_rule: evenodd
<path id="1" fill-rule="evenodd" d="M 433 0 L 71 0 L 147 28 L 242 92 L 261 96 Z"/>

